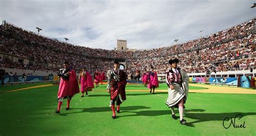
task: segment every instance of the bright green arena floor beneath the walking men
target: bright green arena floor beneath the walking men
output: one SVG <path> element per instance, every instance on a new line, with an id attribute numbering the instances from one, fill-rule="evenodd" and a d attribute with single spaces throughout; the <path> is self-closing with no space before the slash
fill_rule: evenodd
<path id="1" fill-rule="evenodd" d="M 184 117 L 188 124 L 180 125 L 179 120 L 171 118 L 170 108 L 165 105 L 167 92 L 126 92 L 121 113 L 113 120 L 107 92 L 92 91 L 83 98 L 76 94 L 71 100 L 71 110 L 65 111 L 64 100 L 60 114 L 56 114 L 57 91 L 58 86 L 49 86 L 1 93 L 0 135 L 256 134 L 255 94 L 190 93 Z M 179 116 L 177 109 L 176 113 Z M 224 118 L 233 119 L 239 113 L 244 117 L 236 119 L 235 124 L 245 122 L 246 128 L 231 125 L 225 129 Z"/>

